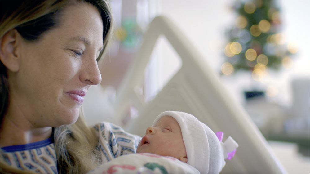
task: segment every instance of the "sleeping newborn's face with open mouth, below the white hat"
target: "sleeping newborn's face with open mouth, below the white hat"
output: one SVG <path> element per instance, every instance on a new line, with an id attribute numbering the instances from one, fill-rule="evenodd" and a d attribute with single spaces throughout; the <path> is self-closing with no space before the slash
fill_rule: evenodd
<path id="1" fill-rule="evenodd" d="M 186 150 L 179 123 L 171 116 L 160 118 L 154 127 L 146 129 L 137 153 L 171 156 L 186 163 Z"/>

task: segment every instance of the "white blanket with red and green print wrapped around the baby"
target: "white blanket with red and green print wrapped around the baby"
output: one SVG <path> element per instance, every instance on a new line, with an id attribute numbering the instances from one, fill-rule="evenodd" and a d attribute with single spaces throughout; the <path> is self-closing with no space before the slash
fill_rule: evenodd
<path id="1" fill-rule="evenodd" d="M 117 157 L 95 168 L 89 174 L 106 173 L 197 173 L 199 171 L 187 163 L 173 157 L 139 153 Z"/>

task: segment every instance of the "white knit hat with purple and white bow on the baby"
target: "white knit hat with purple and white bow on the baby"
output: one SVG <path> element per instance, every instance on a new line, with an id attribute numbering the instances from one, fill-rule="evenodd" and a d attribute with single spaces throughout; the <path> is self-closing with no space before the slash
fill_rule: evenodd
<path id="1" fill-rule="evenodd" d="M 163 116 L 169 115 L 179 123 L 187 153 L 187 163 L 203 173 L 219 173 L 225 166 L 225 158 L 231 158 L 238 147 L 230 136 L 223 143 L 222 133 L 216 135 L 206 124 L 191 114 L 165 111 L 154 120 L 153 126 Z M 232 152 L 232 155 L 229 153 Z M 228 159 L 230 159 L 228 157 Z"/>

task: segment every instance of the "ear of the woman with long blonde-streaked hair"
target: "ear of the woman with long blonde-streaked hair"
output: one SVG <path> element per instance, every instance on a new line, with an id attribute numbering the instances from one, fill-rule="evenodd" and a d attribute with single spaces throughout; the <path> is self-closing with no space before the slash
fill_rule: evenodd
<path id="1" fill-rule="evenodd" d="M 0 40 L 0 60 L 4 66 L 12 72 L 17 72 L 20 68 L 19 46 L 21 35 L 16 29 L 11 29 L 5 33 Z"/>

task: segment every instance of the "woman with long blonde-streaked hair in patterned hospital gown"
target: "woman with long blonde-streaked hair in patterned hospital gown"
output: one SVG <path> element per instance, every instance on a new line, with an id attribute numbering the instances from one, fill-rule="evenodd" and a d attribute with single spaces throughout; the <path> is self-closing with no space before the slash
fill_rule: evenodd
<path id="1" fill-rule="evenodd" d="M 89 128 L 80 109 L 111 19 L 104 1 L 1 2 L 1 172 L 86 173 L 135 153 L 140 137 Z"/>

